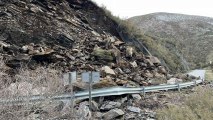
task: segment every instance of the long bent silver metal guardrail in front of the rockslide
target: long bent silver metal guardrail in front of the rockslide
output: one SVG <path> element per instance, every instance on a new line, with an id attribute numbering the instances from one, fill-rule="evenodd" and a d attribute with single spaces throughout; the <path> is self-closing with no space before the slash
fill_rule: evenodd
<path id="1" fill-rule="evenodd" d="M 178 84 L 165 84 L 165 85 L 158 85 L 158 86 L 147 86 L 147 87 L 138 87 L 138 88 L 126 88 L 126 87 L 111 87 L 111 88 L 102 88 L 102 89 L 94 89 L 91 92 L 92 97 L 101 97 L 101 96 L 116 96 L 116 95 L 123 95 L 123 94 L 136 94 L 136 93 L 145 93 L 147 92 L 154 92 L 160 90 L 172 90 L 177 89 L 180 90 L 182 88 L 187 88 L 190 86 L 194 86 L 204 82 L 204 79 L 192 81 L 192 82 L 185 82 L 185 83 L 178 83 Z M 45 100 L 51 101 L 68 101 L 71 98 L 75 100 L 79 99 L 86 99 L 89 98 L 89 91 L 77 92 L 74 93 L 74 96 L 70 94 L 63 94 L 57 96 L 42 96 L 42 95 L 34 95 L 34 96 L 20 96 L 16 98 L 10 99 L 0 99 L 0 104 L 10 105 L 10 104 L 25 104 L 25 103 L 35 103 Z"/>

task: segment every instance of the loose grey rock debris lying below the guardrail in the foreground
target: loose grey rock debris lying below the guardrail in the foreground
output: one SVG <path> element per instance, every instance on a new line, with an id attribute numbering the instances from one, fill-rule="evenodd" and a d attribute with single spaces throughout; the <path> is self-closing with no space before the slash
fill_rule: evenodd
<path id="1" fill-rule="evenodd" d="M 140 96 L 139 94 L 136 95 Z M 140 105 L 140 103 L 144 101 L 142 98 L 140 98 L 138 101 L 138 99 L 136 100 L 132 96 L 129 96 L 128 98 L 127 96 L 124 96 L 115 98 L 114 101 L 106 99 L 102 102 L 100 102 L 99 99 L 92 101 L 91 109 L 89 108 L 88 101 L 83 101 L 75 105 L 73 108 L 73 115 L 70 113 L 70 111 L 72 111 L 70 102 L 52 102 L 50 103 L 51 108 L 47 107 L 49 104 L 45 103 L 45 107 L 40 108 L 40 111 L 46 114 L 45 116 L 43 114 L 36 114 L 35 112 L 29 115 L 29 117 L 48 119 L 48 117 L 52 115 L 50 113 L 50 111 L 52 111 L 53 113 L 60 114 L 60 116 L 55 117 L 57 119 L 70 119 L 71 117 L 74 120 L 156 119 L 156 112 L 149 109 L 148 107 Z"/>

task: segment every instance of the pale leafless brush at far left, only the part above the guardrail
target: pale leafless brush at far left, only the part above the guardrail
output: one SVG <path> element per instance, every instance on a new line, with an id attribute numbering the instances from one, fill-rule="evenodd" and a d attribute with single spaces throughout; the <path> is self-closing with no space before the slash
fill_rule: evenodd
<path id="1" fill-rule="evenodd" d="M 0 94 L 4 97 L 60 94 L 64 92 L 61 75 L 57 70 L 45 67 L 37 67 L 35 70 L 21 68 L 15 76 L 1 69 Z"/>

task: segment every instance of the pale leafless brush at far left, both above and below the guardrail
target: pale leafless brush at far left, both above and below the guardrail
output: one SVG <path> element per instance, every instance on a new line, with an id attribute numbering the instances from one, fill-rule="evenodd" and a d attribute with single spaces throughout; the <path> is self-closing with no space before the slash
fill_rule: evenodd
<path id="1" fill-rule="evenodd" d="M 38 93 L 46 96 L 64 92 L 62 73 L 55 69 L 37 67 L 35 70 L 21 68 L 18 74 L 10 76 L 9 68 L 0 59 L 1 99 L 17 96 L 31 96 Z M 71 107 L 60 101 L 46 100 L 38 103 L 26 102 L 24 105 L 0 104 L 0 120 L 57 119 L 66 115 L 71 119 Z"/>

